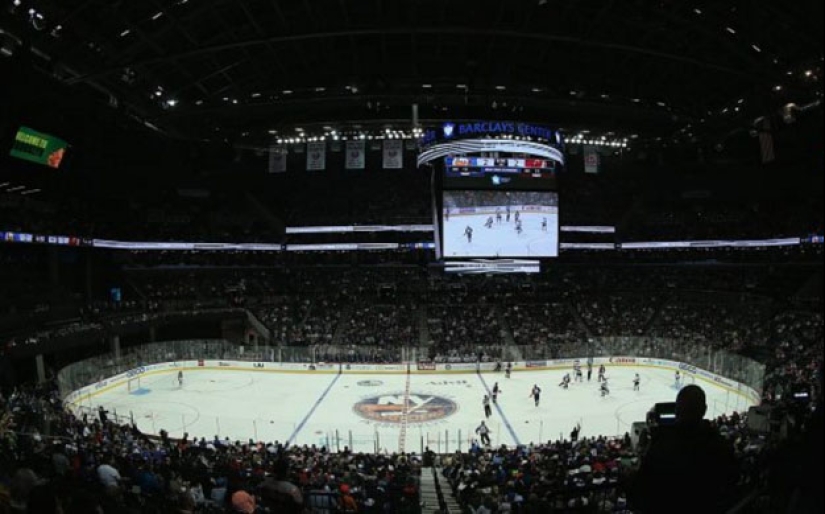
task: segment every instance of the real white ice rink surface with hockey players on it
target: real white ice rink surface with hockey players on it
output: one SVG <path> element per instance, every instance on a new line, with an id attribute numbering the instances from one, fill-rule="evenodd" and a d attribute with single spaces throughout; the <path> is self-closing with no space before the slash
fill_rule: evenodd
<path id="1" fill-rule="evenodd" d="M 633 391 L 633 375 L 641 390 Z M 147 433 L 165 429 L 171 436 L 231 440 L 255 439 L 293 444 L 329 444 L 333 450 L 420 452 L 467 449 L 484 419 L 482 397 L 499 383 L 502 394 L 487 424 L 495 445 L 568 438 L 581 423 L 582 436 L 619 435 L 644 421 L 657 402 L 674 401 L 672 372 L 649 367 L 608 370 L 611 394 L 602 398 L 592 382 L 558 387 L 562 370 L 452 374 L 300 374 L 243 370 L 189 370 L 178 386 L 175 372 L 141 378 L 140 389 L 126 386 L 92 396 L 83 407 L 103 405 L 118 416 L 133 417 Z M 409 381 L 409 382 L 408 382 Z M 542 388 L 539 407 L 529 397 Z M 737 393 L 701 381 L 708 417 L 746 411 Z M 403 430 L 402 427 L 406 427 Z M 402 434 L 405 434 L 402 437 Z M 336 439 L 336 436 L 338 439 Z"/>

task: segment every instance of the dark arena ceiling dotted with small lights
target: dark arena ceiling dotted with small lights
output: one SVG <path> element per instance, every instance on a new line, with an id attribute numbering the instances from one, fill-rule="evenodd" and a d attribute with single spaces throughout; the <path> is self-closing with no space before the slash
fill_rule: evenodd
<path id="1" fill-rule="evenodd" d="M 187 138 L 403 128 L 413 104 L 696 138 L 822 94 L 821 0 L 1 1 L 7 54 Z"/>

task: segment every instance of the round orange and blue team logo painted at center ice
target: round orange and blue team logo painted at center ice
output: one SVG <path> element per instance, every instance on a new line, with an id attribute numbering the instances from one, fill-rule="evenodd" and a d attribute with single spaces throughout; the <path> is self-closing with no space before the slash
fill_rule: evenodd
<path id="1" fill-rule="evenodd" d="M 448 418 L 458 411 L 458 405 L 442 396 L 411 394 L 404 405 L 403 394 L 388 394 L 365 398 L 355 404 L 355 412 L 364 419 L 379 423 L 428 423 Z"/>

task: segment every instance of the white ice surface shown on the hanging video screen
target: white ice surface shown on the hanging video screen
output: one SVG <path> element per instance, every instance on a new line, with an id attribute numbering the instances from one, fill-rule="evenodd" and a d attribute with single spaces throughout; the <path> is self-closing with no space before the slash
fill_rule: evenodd
<path id="1" fill-rule="evenodd" d="M 559 248 L 558 214 L 522 213 L 522 233 L 513 218 L 486 228 L 488 214 L 462 214 L 444 221 L 444 255 L 447 257 L 556 257 Z M 547 219 L 547 230 L 541 229 Z M 494 217 L 495 219 L 495 217 Z M 464 231 L 473 229 L 467 241 Z"/>

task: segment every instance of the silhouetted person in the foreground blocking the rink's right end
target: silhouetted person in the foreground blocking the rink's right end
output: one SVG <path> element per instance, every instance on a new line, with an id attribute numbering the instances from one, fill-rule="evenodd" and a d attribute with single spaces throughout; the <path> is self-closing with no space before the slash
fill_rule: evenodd
<path id="1" fill-rule="evenodd" d="M 633 484 L 644 514 L 724 513 L 737 500 L 733 446 L 705 421 L 705 392 L 685 386 L 676 398 L 676 424 L 653 434 Z M 634 509 L 634 512 L 635 512 Z"/>

